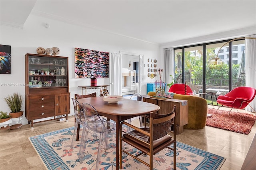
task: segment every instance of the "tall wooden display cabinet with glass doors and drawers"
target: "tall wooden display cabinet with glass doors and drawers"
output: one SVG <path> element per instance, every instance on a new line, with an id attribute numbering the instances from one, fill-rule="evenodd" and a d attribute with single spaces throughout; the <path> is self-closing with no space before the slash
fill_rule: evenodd
<path id="1" fill-rule="evenodd" d="M 39 54 L 25 57 L 25 116 L 31 128 L 35 119 L 54 117 L 46 120 L 50 121 L 64 115 L 68 121 L 68 57 Z"/>

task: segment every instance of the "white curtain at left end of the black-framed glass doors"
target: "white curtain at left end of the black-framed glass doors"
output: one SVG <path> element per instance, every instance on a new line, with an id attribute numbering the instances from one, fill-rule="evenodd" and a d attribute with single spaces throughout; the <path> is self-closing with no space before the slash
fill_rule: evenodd
<path id="1" fill-rule="evenodd" d="M 164 51 L 164 81 L 166 84 L 171 83 L 170 75 L 174 76 L 174 51 L 173 48 L 165 49 Z M 169 87 L 166 87 L 166 91 L 169 91 Z"/>

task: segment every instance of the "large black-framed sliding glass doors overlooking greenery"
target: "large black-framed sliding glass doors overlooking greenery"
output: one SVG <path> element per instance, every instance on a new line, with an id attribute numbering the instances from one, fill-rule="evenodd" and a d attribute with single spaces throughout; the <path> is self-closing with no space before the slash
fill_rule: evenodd
<path id="1" fill-rule="evenodd" d="M 242 61 L 244 62 L 244 59 L 242 60 L 242 56 L 244 57 L 244 55 L 242 55 L 240 50 L 245 49 L 245 40 L 226 43 L 228 41 L 174 48 L 175 78 L 183 72 L 183 75 L 186 72 L 190 72 L 191 77 L 189 83 L 203 89 L 206 93 L 212 91 L 213 87 L 214 90 L 232 90 L 236 87 L 240 63 Z M 208 62 L 212 61 L 217 53 L 218 58 L 223 61 L 223 67 L 212 69 L 208 67 Z M 218 68 L 218 65 L 216 65 L 216 68 Z"/>

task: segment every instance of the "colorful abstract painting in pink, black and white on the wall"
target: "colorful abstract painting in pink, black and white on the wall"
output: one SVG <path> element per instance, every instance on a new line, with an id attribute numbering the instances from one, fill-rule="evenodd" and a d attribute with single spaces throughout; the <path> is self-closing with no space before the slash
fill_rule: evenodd
<path id="1" fill-rule="evenodd" d="M 108 78 L 109 52 L 75 48 L 75 78 Z"/>

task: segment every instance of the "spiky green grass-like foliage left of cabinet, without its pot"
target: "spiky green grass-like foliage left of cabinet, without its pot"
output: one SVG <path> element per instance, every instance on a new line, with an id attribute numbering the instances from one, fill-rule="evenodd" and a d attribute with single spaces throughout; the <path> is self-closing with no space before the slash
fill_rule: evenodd
<path id="1" fill-rule="evenodd" d="M 8 95 L 4 98 L 6 101 L 9 109 L 11 110 L 11 113 L 17 113 L 20 112 L 22 109 L 22 95 L 19 95 L 18 93 L 13 93 L 12 95 Z"/>

